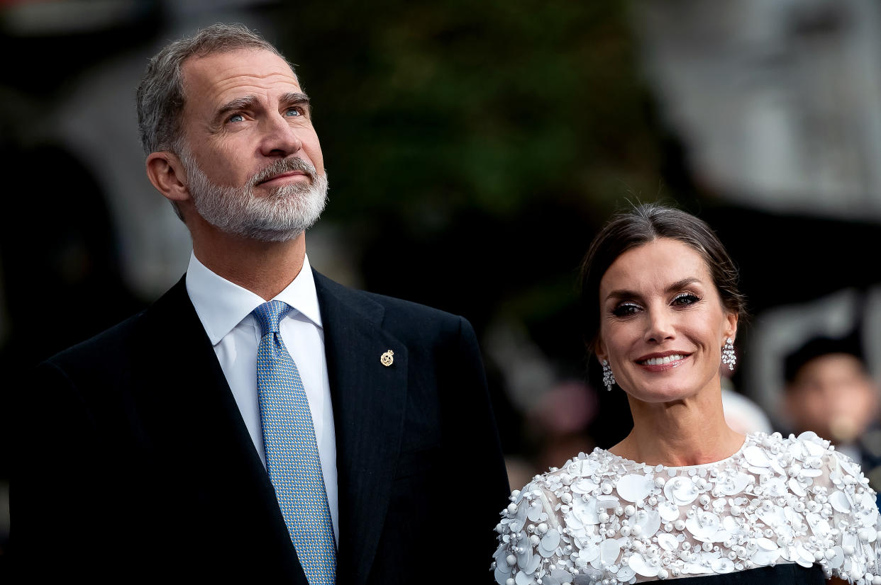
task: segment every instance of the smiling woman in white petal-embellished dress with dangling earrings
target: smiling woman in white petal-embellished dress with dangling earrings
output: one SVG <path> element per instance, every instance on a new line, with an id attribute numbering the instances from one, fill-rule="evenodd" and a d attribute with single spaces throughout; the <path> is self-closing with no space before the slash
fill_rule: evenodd
<path id="1" fill-rule="evenodd" d="M 881 585 L 881 523 L 858 464 L 813 433 L 740 435 L 722 413 L 744 314 L 706 223 L 643 205 L 615 216 L 582 267 L 586 339 L 633 430 L 511 494 L 501 585 Z"/>

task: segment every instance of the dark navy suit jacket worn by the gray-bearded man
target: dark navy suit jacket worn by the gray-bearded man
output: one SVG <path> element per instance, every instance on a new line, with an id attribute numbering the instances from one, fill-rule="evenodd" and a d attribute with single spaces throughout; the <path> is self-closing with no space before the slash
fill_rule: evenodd
<path id="1" fill-rule="evenodd" d="M 337 582 L 490 581 L 508 486 L 469 323 L 318 273 L 315 285 L 337 434 Z M 23 580 L 306 585 L 183 279 L 15 394 L 10 552 Z"/>

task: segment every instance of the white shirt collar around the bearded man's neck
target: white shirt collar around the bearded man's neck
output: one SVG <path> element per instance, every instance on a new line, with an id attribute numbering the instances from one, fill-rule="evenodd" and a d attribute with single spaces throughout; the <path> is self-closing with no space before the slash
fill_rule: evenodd
<path id="1" fill-rule="evenodd" d="M 227 333 L 233 331 L 235 325 L 265 303 L 261 296 L 211 272 L 196 258 L 195 253 L 189 255 L 187 293 L 211 345 L 217 345 Z M 294 311 L 288 313 L 288 317 L 295 317 L 299 312 L 315 326 L 322 327 L 315 277 L 308 256 L 303 258 L 300 274 L 272 300 L 283 301 L 293 307 Z"/>

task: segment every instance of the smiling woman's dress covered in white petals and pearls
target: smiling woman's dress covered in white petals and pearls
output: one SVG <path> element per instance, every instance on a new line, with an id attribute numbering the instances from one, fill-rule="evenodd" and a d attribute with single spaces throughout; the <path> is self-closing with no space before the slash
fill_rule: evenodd
<path id="1" fill-rule="evenodd" d="M 755 433 L 731 457 L 687 467 L 597 448 L 537 475 L 501 516 L 500 585 L 776 583 L 767 575 L 782 570 L 795 575 L 785 582 L 881 585 L 875 493 L 814 433 Z"/>

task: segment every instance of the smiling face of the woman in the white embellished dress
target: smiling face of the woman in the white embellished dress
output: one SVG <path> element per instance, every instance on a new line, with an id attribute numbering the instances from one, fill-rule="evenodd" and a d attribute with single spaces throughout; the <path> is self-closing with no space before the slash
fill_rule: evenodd
<path id="1" fill-rule="evenodd" d="M 600 281 L 596 355 L 633 399 L 659 403 L 720 387 L 737 315 L 722 308 L 707 263 L 689 245 L 659 238 L 624 252 Z"/>

